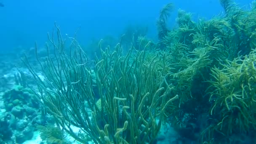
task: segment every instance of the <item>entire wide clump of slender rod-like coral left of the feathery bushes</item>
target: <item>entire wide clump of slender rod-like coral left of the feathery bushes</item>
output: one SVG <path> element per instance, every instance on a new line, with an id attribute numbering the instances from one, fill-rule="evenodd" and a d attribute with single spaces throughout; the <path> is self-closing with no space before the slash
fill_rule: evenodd
<path id="1" fill-rule="evenodd" d="M 48 50 L 55 49 L 53 57 L 49 53 L 43 61 L 37 57 L 45 80 L 37 76 L 26 58 L 23 61 L 38 84 L 37 96 L 57 125 L 82 143 L 88 139 L 74 133 L 71 125 L 96 144 L 155 141 L 165 108 L 178 98 L 171 95 L 172 85 L 165 79 L 165 53 L 146 61 L 146 52 L 134 47 L 122 53 L 121 40 L 115 51 L 101 51 L 101 59 L 96 56 L 95 69 L 91 69 L 75 38 L 68 39 L 71 45 L 67 51 L 66 40 L 59 27 L 56 29 L 57 41 L 49 36 L 51 46 L 47 45 Z M 157 67 L 159 64 L 163 67 Z"/>

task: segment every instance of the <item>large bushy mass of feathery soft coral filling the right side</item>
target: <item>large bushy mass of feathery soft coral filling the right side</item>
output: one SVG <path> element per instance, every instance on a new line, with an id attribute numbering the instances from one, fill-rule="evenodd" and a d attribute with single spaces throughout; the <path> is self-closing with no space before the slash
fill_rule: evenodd
<path id="1" fill-rule="evenodd" d="M 184 110 L 186 109 L 184 107 L 188 107 L 186 106 L 188 102 L 189 104 L 203 105 L 198 101 L 205 102 L 205 99 L 210 98 L 211 100 L 206 103 L 208 106 L 213 103 L 210 110 L 208 106 L 200 107 L 201 111 L 209 110 L 212 114 L 209 118 L 210 124 L 206 124 L 208 128 L 202 132 L 202 135 L 208 133 L 208 141 L 212 141 L 211 138 L 216 138 L 218 133 L 230 136 L 237 131 L 241 133 L 251 131 L 254 129 L 252 123 L 255 122 L 254 118 L 249 116 L 249 114 L 254 115 L 253 111 L 250 112 L 253 107 L 250 105 L 251 102 L 247 101 L 248 98 L 241 101 L 243 95 L 254 93 L 249 90 L 253 84 L 245 83 L 248 81 L 246 79 L 253 80 L 252 77 L 247 77 L 252 73 L 242 76 L 241 71 L 237 70 L 237 67 L 240 67 L 238 65 L 247 67 L 245 61 L 250 61 L 251 70 L 248 70 L 253 72 L 253 53 L 255 52 L 251 51 L 252 48 L 255 48 L 255 22 L 253 22 L 255 21 L 253 20 L 255 19 L 255 8 L 252 6 L 250 11 L 245 11 L 232 0 L 221 0 L 221 4 L 226 11 L 225 16 L 216 16 L 208 21 L 199 20 L 197 23 L 189 19 L 191 15 L 180 11 L 177 21 L 179 27 L 169 31 L 163 40 L 165 51 L 170 53 L 168 60 L 171 61 L 170 66 L 172 66 L 171 77 L 168 77 L 168 81 L 173 84 L 176 93 L 180 96 L 179 106 L 183 108 L 180 111 L 191 112 L 191 115 L 195 115 L 196 111 Z M 238 52 L 241 56 L 236 58 Z M 250 55 L 246 56 L 249 53 Z M 235 62 L 231 62 L 233 60 Z M 207 81 L 211 83 L 206 83 Z M 231 81 L 235 83 L 230 84 Z M 199 86 L 201 83 L 205 83 L 205 86 Z M 217 83 L 223 87 L 221 89 L 222 87 L 219 86 L 221 89 L 219 94 L 219 89 L 216 88 Z M 243 83 L 243 85 L 239 83 Z M 210 93 L 205 92 L 206 85 L 210 86 L 208 88 Z M 227 85 L 229 85 L 228 88 Z M 193 107 L 189 108 L 193 109 Z M 194 108 L 198 109 L 198 105 L 194 105 Z M 183 117 L 178 114 L 174 115 L 178 119 L 178 121 L 174 121 L 181 123 L 179 120 L 182 120 Z M 205 135 L 203 138 L 206 138 Z M 218 138 L 221 141 L 220 137 Z"/>

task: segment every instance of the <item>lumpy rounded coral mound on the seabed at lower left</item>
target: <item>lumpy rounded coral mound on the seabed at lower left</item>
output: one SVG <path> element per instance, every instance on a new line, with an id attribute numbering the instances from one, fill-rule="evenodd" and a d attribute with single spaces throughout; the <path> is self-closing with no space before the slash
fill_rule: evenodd
<path id="1" fill-rule="evenodd" d="M 5 91 L 3 111 L 0 117 L 0 140 L 22 144 L 33 137 L 35 125 L 45 125 L 47 116 L 42 112 L 41 102 L 29 88 L 15 85 Z M 48 119 L 49 120 L 49 119 Z"/>

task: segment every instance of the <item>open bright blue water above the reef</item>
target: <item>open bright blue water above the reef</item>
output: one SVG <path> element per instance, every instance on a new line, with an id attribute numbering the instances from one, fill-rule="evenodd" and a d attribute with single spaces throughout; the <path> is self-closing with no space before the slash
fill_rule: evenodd
<path id="1" fill-rule="evenodd" d="M 249 6 L 252 0 L 236 0 Z M 0 52 L 29 49 L 37 41 L 43 46 L 54 21 L 63 34 L 72 35 L 79 26 L 80 44 L 90 43 L 106 35 L 118 37 L 128 25 L 149 28 L 148 36 L 157 40 L 156 21 L 167 3 L 176 10 L 169 19 L 175 25 L 177 10 L 191 12 L 194 19 L 211 18 L 221 13 L 219 0 L 0 0 Z"/>

